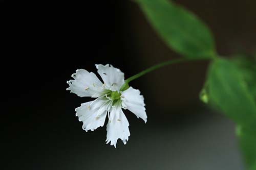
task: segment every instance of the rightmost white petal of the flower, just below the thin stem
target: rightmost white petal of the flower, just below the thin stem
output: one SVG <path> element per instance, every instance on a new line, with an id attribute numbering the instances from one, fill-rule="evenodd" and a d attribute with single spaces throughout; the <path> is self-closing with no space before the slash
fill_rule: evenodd
<path id="1" fill-rule="evenodd" d="M 146 123 L 147 115 L 144 104 L 143 95 L 140 95 L 140 90 L 129 87 L 122 92 L 121 95 L 122 107 L 133 112 L 138 118 L 142 118 Z"/>

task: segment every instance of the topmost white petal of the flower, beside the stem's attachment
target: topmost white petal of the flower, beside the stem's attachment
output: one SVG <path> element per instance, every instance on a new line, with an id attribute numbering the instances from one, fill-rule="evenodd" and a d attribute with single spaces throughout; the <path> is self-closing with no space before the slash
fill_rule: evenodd
<path id="1" fill-rule="evenodd" d="M 119 91 L 120 87 L 124 84 L 123 72 L 110 64 L 96 64 L 96 68 L 98 69 L 98 74 L 105 83 L 105 88 L 112 91 Z"/>

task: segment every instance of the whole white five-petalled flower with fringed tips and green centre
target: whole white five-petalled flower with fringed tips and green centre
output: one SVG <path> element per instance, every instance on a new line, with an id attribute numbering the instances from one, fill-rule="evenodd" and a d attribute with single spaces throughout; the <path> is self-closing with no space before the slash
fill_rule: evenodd
<path id="1" fill-rule="evenodd" d="M 76 70 L 72 75 L 74 80 L 67 83 L 71 92 L 80 97 L 91 96 L 97 98 L 94 101 L 81 104 L 76 108 L 76 116 L 83 122 L 83 130 L 94 131 L 102 127 L 108 114 L 109 122 L 106 125 L 106 143 L 114 145 L 118 139 L 124 144 L 130 136 L 129 122 L 125 117 L 122 108 L 133 112 L 138 118 L 142 118 L 146 123 L 147 115 L 145 104 L 140 91 L 132 87 L 126 90 L 120 88 L 124 85 L 124 74 L 120 69 L 110 64 L 96 64 L 98 74 L 104 84 L 97 78 L 93 72 L 84 69 Z"/>

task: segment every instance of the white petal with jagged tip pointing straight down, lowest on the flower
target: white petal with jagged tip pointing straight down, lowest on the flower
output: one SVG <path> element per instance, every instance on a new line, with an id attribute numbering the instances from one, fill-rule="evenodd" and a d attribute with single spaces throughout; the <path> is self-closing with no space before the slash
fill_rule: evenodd
<path id="1" fill-rule="evenodd" d="M 121 139 L 124 144 L 130 136 L 129 122 L 125 117 L 121 106 L 115 105 L 110 112 L 109 123 L 106 125 L 106 143 L 110 142 L 110 145 L 114 145 L 118 139 Z"/>

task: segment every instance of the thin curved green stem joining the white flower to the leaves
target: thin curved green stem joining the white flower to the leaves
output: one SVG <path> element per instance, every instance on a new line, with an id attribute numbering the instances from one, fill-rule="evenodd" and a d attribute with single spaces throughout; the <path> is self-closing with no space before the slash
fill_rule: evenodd
<path id="1" fill-rule="evenodd" d="M 196 58 L 196 59 L 179 58 L 179 59 L 173 59 L 173 60 L 161 62 L 159 64 L 153 65 L 153 66 L 151 66 L 151 67 L 149 67 L 149 68 L 139 72 L 138 74 L 136 74 L 136 75 L 126 79 L 125 83 L 128 84 L 132 80 L 137 79 L 137 78 L 147 74 L 147 72 L 154 71 L 157 68 L 160 68 L 160 67 L 163 67 L 163 66 L 166 66 L 166 65 L 169 65 L 169 64 L 182 63 L 182 62 L 187 62 L 187 61 L 192 61 L 192 60 L 202 60 L 202 59 L 209 59 L 209 58 Z"/>

